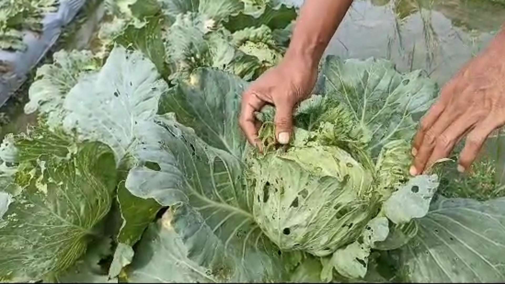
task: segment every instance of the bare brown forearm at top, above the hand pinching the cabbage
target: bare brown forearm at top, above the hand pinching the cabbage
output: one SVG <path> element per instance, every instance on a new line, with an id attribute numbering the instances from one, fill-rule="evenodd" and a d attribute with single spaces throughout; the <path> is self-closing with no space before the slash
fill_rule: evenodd
<path id="1" fill-rule="evenodd" d="M 286 59 L 318 64 L 352 0 L 306 0 L 296 20 Z"/>

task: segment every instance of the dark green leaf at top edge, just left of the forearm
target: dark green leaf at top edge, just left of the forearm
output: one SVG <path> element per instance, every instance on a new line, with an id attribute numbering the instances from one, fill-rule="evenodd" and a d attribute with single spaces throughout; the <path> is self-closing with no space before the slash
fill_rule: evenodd
<path id="1" fill-rule="evenodd" d="M 231 32 L 266 25 L 272 30 L 283 29 L 297 17 L 296 9 L 276 0 L 243 0 L 244 10 L 233 15 L 224 23 Z M 260 3 L 258 3 L 260 2 Z"/>

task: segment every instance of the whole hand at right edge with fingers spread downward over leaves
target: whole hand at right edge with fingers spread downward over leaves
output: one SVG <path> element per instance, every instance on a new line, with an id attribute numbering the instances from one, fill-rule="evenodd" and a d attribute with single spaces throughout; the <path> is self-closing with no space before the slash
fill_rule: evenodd
<path id="1" fill-rule="evenodd" d="M 458 164 L 458 171 L 466 171 L 489 134 L 505 124 L 505 36 L 501 36 L 442 88 L 438 102 L 422 119 L 413 142 L 412 175 L 449 156 L 468 134 Z"/>

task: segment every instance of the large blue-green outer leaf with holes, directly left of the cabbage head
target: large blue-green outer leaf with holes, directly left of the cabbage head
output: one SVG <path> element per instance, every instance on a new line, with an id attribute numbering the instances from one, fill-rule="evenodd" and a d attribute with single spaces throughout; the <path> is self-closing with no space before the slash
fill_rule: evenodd
<path id="1" fill-rule="evenodd" d="M 142 144 L 134 153 L 144 165 L 130 170 L 126 188 L 171 206 L 187 258 L 211 269 L 206 275 L 229 281 L 282 280 L 290 254 L 278 251 L 254 223 L 240 161 L 207 145 L 169 115 L 139 130 Z M 223 269 L 211 268 L 217 263 Z M 165 275 L 155 260 L 143 267 L 157 271 L 152 277 Z"/>

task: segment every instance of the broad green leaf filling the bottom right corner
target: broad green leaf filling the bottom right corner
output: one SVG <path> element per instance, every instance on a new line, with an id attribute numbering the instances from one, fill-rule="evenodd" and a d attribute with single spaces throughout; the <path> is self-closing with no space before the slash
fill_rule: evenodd
<path id="1" fill-rule="evenodd" d="M 412 282 L 500 282 L 505 277 L 505 199 L 440 198 L 401 248 Z"/>

